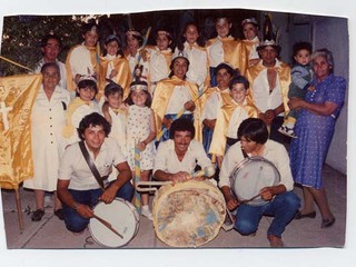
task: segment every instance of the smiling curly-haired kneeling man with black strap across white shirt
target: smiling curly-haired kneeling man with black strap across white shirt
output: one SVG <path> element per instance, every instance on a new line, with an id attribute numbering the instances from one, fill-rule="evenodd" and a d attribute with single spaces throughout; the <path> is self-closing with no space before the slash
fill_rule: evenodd
<path id="1" fill-rule="evenodd" d="M 70 231 L 86 229 L 89 219 L 95 216 L 92 207 L 99 200 L 110 204 L 116 197 L 128 201 L 132 199 L 131 170 L 117 141 L 106 138 L 110 129 L 111 126 L 101 115 L 93 112 L 86 116 L 78 128 L 82 142 L 69 146 L 62 156 L 57 192 L 63 204 L 66 227 Z M 117 179 L 103 186 L 93 175 L 92 167 L 89 168 L 89 157 L 101 177 L 107 177 L 116 167 L 119 171 Z"/>

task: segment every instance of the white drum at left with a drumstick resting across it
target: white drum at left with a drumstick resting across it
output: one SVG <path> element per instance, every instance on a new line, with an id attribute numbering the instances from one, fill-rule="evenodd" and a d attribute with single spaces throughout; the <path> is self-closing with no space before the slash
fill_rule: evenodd
<path id="1" fill-rule="evenodd" d="M 121 247 L 136 236 L 139 228 L 139 215 L 132 204 L 116 198 L 111 204 L 99 202 L 93 208 L 95 215 L 110 222 L 123 238 L 111 231 L 96 218 L 89 222 L 92 238 L 105 247 Z"/>

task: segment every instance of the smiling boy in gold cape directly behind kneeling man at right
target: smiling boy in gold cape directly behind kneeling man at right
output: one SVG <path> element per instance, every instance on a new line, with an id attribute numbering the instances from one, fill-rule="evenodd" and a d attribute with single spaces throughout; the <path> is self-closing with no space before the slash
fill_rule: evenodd
<path id="1" fill-rule="evenodd" d="M 218 111 L 209 154 L 216 156 L 219 168 L 227 148 L 238 141 L 239 125 L 247 118 L 258 118 L 256 107 L 246 99 L 248 87 L 244 76 L 234 78 L 229 86 L 231 101 Z"/>

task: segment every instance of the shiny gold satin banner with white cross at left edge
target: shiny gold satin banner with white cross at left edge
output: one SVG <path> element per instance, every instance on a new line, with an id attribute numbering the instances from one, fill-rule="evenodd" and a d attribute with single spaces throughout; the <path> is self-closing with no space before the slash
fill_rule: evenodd
<path id="1" fill-rule="evenodd" d="M 33 176 L 31 108 L 41 75 L 0 77 L 0 188 L 17 189 Z"/>

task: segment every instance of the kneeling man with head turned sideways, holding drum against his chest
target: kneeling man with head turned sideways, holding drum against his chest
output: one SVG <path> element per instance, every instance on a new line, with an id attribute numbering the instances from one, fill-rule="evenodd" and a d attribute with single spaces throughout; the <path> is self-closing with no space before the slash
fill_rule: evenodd
<path id="1" fill-rule="evenodd" d="M 267 238 L 271 247 L 283 247 L 281 234 L 300 206 L 291 191 L 288 154 L 283 145 L 268 139 L 260 119 L 244 120 L 237 136 L 240 141 L 227 151 L 219 176 L 227 208 L 238 207 L 235 229 L 251 235 L 264 215 L 274 216 Z M 257 190 L 256 195 L 240 197 L 251 189 Z"/>

